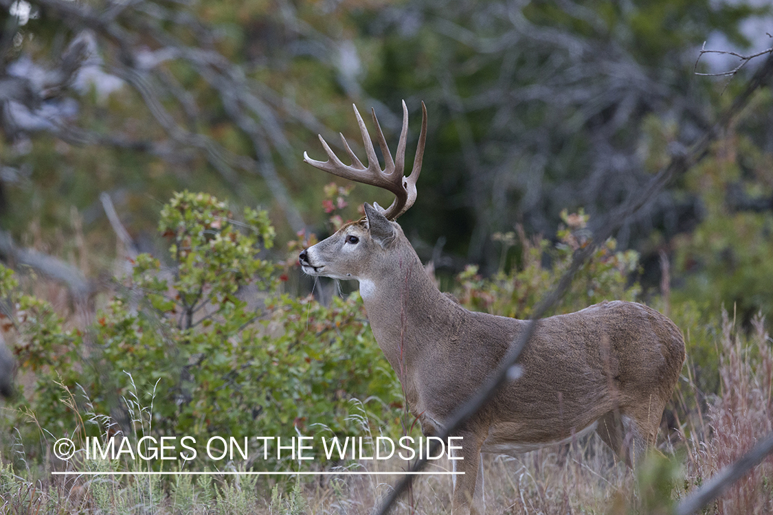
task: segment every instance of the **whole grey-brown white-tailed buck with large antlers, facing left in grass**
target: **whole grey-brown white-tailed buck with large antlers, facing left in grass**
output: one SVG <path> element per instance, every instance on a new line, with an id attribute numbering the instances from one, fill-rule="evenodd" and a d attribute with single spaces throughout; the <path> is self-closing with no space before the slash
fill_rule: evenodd
<path id="1" fill-rule="evenodd" d="M 322 137 L 328 161 L 304 154 L 316 168 L 386 188 L 397 198 L 387 209 L 366 204 L 363 219 L 305 249 L 300 262 L 312 276 L 359 281 L 376 341 L 403 383 L 410 411 L 432 435 L 496 370 L 527 322 L 468 311 L 441 293 L 395 222 L 416 200 L 427 137 L 427 110 L 421 106 L 421 136 L 408 178 L 405 103 L 394 160 L 373 112 L 385 170 L 356 107 L 367 167 L 346 140 L 349 166 Z M 455 469 L 465 475 L 455 476 L 455 512 L 482 511 L 481 452 L 525 452 L 595 430 L 621 459 L 635 463 L 655 442 L 683 361 L 679 329 L 642 304 L 603 302 L 540 320 L 518 359 L 521 377 L 500 388 L 457 434 L 464 438 L 463 459 L 454 461 Z"/>

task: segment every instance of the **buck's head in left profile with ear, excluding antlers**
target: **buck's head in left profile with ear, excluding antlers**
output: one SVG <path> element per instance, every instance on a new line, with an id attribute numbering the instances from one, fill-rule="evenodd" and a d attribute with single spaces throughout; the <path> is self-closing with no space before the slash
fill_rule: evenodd
<path id="1" fill-rule="evenodd" d="M 365 205 L 365 215 L 359 222 L 344 225 L 328 239 L 301 252 L 298 261 L 304 273 L 363 281 L 383 270 L 402 231 L 400 225 L 387 220 L 369 204 Z"/>

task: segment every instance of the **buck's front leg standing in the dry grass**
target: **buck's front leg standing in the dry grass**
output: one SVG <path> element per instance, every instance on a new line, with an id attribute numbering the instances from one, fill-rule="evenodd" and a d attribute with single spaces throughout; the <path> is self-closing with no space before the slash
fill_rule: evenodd
<path id="1" fill-rule="evenodd" d="M 483 501 L 483 470 L 481 446 L 482 438 L 472 432 L 459 433 L 462 436 L 461 450 L 455 452 L 454 496 L 451 513 L 471 515 L 484 513 Z M 462 474 L 463 473 L 463 474 Z"/>

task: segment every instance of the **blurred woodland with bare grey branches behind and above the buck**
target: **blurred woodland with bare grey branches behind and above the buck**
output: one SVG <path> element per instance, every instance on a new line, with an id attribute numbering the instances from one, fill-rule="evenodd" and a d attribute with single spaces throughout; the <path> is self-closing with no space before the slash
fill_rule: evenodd
<path id="1" fill-rule="evenodd" d="M 494 233 L 520 224 L 553 235 L 564 209 L 607 212 L 693 144 L 744 85 L 745 69 L 729 81 L 693 75 L 737 64 L 704 56 L 696 66 L 702 42 L 764 46 L 768 36 L 748 27 L 771 15 L 764 3 L 708 0 L 2 5 L 0 227 L 22 246 L 82 252 L 87 276 L 114 257 L 103 192 L 143 251 L 158 253 L 158 208 L 182 188 L 267 208 L 281 242 L 326 235 L 330 178 L 302 164 L 303 151 L 319 158 L 315 135 L 335 148 L 339 130 L 361 150 L 351 103 L 375 107 L 394 141 L 401 99 L 411 144 L 420 100 L 429 110 L 407 233 L 438 273 L 472 263 L 489 276 L 501 261 Z M 722 209 L 769 215 L 770 103 L 758 95 L 723 138 L 714 188 L 678 181 L 621 229 L 619 246 L 642 253 L 645 290 L 659 283 L 661 250 L 690 274 L 728 262 L 724 249 L 697 256 L 686 241 L 721 230 L 693 234 Z M 366 200 L 390 202 L 358 186 L 344 219 Z M 730 290 L 714 288 L 714 306 L 770 309 L 762 287 L 748 302 Z"/>

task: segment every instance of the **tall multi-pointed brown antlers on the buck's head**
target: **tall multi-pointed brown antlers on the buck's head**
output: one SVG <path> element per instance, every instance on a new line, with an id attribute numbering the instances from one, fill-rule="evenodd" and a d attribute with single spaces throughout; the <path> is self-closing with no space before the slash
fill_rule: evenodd
<path id="1" fill-rule="evenodd" d="M 357 156 L 349 148 L 349 144 L 346 143 L 346 138 L 341 134 L 341 140 L 343 141 L 343 147 L 346 149 L 346 154 L 349 154 L 349 158 L 352 160 L 352 164 L 347 166 L 343 164 L 341 160 L 335 155 L 335 152 L 331 150 L 327 142 L 319 136 L 319 141 L 322 142 L 322 147 L 328 154 L 328 161 L 315 161 L 308 157 L 306 152 L 303 153 L 303 160 L 308 164 L 311 164 L 315 168 L 324 170 L 329 174 L 337 175 L 339 177 L 349 179 L 350 181 L 361 182 L 366 185 L 378 186 L 391 191 L 395 197 L 392 205 L 383 211 L 383 215 L 387 219 L 396 220 L 397 217 L 406 212 L 410 206 L 416 202 L 416 181 L 421 173 L 421 159 L 424 156 L 424 142 L 427 141 L 427 107 L 424 106 L 424 102 L 421 103 L 421 135 L 419 136 L 419 144 L 416 147 L 416 158 L 414 158 L 414 169 L 410 171 L 410 175 L 404 177 L 405 168 L 405 145 L 408 136 L 408 108 L 403 100 L 403 129 L 400 131 L 400 141 L 397 143 L 397 154 L 395 154 L 395 161 L 392 160 L 389 147 L 386 146 L 386 140 L 381 132 L 381 126 L 379 120 L 376 118 L 376 111 L 371 109 L 373 114 L 373 124 L 376 125 L 376 136 L 378 136 L 379 146 L 381 147 L 381 153 L 385 161 L 385 167 L 382 170 L 379 164 L 379 159 L 376 157 L 376 151 L 373 148 L 373 141 L 370 140 L 370 135 L 363 122 L 363 117 L 359 116 L 357 107 L 354 107 L 354 114 L 357 117 L 357 124 L 359 124 L 359 131 L 363 134 L 363 143 L 365 144 L 365 151 L 368 156 L 367 168 L 363 165 Z"/>

